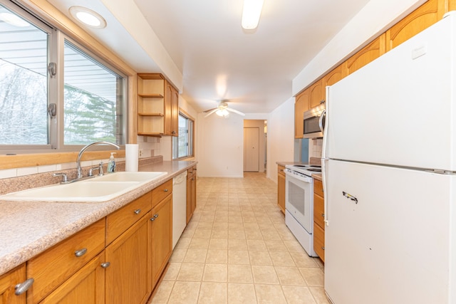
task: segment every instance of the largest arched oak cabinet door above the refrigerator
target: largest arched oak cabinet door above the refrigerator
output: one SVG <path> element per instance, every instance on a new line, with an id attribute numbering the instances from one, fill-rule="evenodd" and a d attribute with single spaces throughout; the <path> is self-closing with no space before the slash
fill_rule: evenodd
<path id="1" fill-rule="evenodd" d="M 408 38 L 415 36 L 420 31 L 442 19 L 443 14 L 445 14 L 445 1 L 447 0 L 428 0 L 388 29 L 386 31 L 386 50 L 390 51 L 400 45 L 400 43 L 408 40 Z M 455 8 L 454 2 L 454 0 L 451 0 L 449 6 Z"/>

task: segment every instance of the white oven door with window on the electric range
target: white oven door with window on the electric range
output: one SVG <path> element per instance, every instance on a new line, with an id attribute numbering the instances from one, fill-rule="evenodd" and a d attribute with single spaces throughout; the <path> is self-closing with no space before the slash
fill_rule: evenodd
<path id="1" fill-rule="evenodd" d="M 285 209 L 306 229 L 314 230 L 314 182 L 311 177 L 301 177 L 285 172 Z"/>

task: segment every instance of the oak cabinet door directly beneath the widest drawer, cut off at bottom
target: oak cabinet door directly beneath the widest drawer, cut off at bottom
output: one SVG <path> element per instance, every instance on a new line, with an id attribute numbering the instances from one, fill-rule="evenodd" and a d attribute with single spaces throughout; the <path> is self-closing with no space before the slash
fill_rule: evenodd
<path id="1" fill-rule="evenodd" d="M 41 304 L 105 303 L 105 253 L 93 258 L 71 278 L 41 301 Z"/>

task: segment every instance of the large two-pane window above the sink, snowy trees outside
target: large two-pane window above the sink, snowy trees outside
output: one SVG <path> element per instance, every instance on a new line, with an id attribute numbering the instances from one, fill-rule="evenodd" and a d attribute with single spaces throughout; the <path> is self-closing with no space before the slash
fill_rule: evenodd
<path id="1" fill-rule="evenodd" d="M 126 77 L 65 33 L 0 0 L 1 153 L 125 143 Z"/>

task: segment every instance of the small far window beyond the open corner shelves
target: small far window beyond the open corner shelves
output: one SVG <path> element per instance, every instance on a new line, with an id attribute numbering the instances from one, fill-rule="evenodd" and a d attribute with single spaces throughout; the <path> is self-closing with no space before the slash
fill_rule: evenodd
<path id="1" fill-rule="evenodd" d="M 193 156 L 193 125 L 190 115 L 179 112 L 179 136 L 172 137 L 172 159 Z"/>

